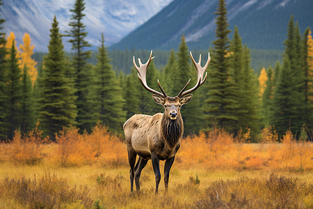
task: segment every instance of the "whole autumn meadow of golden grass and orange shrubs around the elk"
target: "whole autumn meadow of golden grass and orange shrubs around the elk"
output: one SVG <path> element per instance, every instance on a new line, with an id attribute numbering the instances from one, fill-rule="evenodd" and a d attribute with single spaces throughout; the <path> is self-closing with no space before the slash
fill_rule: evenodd
<path id="1" fill-rule="evenodd" d="M 313 208 L 313 145 L 289 131 L 282 143 L 270 129 L 259 144 L 223 130 L 186 137 L 159 194 L 151 162 L 130 192 L 126 146 L 106 127 L 40 134 L 0 145 L 0 208 Z"/>

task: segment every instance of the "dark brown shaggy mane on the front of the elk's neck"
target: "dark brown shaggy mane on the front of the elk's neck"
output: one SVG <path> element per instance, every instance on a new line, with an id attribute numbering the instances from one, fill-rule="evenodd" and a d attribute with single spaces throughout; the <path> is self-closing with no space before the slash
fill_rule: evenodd
<path id="1" fill-rule="evenodd" d="M 174 148 L 177 141 L 182 137 L 183 132 L 184 122 L 182 121 L 182 116 L 178 116 L 176 120 L 170 120 L 170 118 L 163 114 L 161 133 L 170 148 Z"/>

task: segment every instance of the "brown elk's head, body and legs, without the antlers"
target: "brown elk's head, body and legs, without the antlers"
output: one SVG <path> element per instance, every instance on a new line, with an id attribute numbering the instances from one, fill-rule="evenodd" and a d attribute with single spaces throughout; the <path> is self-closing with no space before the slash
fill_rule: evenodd
<path id="1" fill-rule="evenodd" d="M 166 160 L 164 165 L 164 183 L 168 189 L 170 167 L 180 147 L 180 139 L 184 132 L 184 122 L 180 114 L 182 104 L 188 103 L 192 98 L 161 98 L 154 95 L 157 104 L 164 107 L 164 113 L 147 116 L 136 114 L 131 116 L 124 124 L 125 141 L 129 157 L 131 191 L 135 179 L 136 189 L 140 189 L 139 178 L 141 170 L 152 160 L 152 167 L 156 178 L 156 192 L 158 191 L 161 173 L 159 160 Z M 136 163 L 136 155 L 139 159 Z M 135 165 L 136 163 L 136 165 Z"/>

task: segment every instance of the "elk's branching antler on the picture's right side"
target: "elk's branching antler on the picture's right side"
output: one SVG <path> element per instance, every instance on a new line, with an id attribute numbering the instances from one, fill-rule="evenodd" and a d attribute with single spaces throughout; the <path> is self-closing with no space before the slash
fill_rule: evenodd
<path id="1" fill-rule="evenodd" d="M 187 84 L 184 86 L 184 88 L 182 88 L 182 91 L 180 91 L 179 94 L 177 95 L 177 97 L 179 97 L 179 98 L 183 98 L 184 95 L 187 95 L 188 93 L 195 91 L 197 88 L 199 88 L 199 86 L 204 84 L 205 80 L 207 79 L 207 72 L 205 72 L 204 78 L 203 78 L 203 74 L 204 74 L 204 71 L 207 70 L 207 66 L 209 66 L 209 63 L 211 60 L 210 53 L 208 53 L 207 63 L 205 63 L 203 68 L 201 67 L 201 54 L 200 54 L 198 63 L 196 63 L 195 60 L 193 59 L 193 54 L 191 52 L 190 52 L 190 56 L 191 56 L 191 60 L 193 61 L 193 65 L 195 65 L 195 69 L 197 70 L 197 73 L 198 73 L 197 84 L 195 84 L 195 86 L 193 86 L 193 88 L 185 91 L 185 89 L 187 88 L 187 86 L 190 82 L 190 79 L 189 79 Z"/>

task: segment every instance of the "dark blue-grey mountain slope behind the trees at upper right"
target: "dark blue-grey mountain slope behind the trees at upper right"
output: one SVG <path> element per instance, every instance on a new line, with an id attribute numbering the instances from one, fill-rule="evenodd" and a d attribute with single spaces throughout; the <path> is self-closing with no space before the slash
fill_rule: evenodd
<path id="1" fill-rule="evenodd" d="M 283 49 L 291 15 L 300 32 L 313 27 L 312 0 L 227 0 L 230 29 L 252 49 Z M 190 49 L 209 49 L 215 40 L 218 0 L 175 0 L 112 49 L 177 49 L 182 34 Z M 232 34 L 230 34 L 232 38 Z"/>

